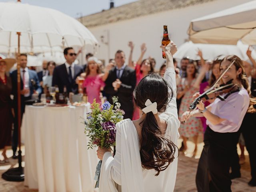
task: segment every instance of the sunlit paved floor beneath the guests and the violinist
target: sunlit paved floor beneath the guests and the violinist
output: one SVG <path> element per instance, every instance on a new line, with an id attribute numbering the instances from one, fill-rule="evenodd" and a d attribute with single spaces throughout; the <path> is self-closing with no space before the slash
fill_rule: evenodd
<path id="1" fill-rule="evenodd" d="M 181 140 L 179 140 L 179 144 Z M 203 143 L 198 145 L 198 152 L 196 157 L 190 157 L 193 150 L 194 144 L 188 141 L 188 154 L 186 156 L 180 153 L 178 162 L 178 173 L 176 178 L 175 192 L 196 192 L 195 175 L 196 168 L 198 165 L 198 158 L 202 151 Z M 25 155 L 25 149 L 22 148 L 23 158 Z M 0 152 L 1 153 L 1 152 Z M 239 152 L 238 152 L 239 153 Z M 8 150 L 7 156 L 12 155 L 11 150 Z M 17 160 L 10 158 L 10 164 L 0 164 L 0 174 L 6 171 L 8 168 L 17 166 Z M 24 162 L 23 162 L 24 166 Z M 246 153 L 246 162 L 241 168 L 242 177 L 232 180 L 232 191 L 233 192 L 256 192 L 256 187 L 248 186 L 250 180 L 250 164 L 248 154 Z M 7 182 L 0 178 L 0 192 L 35 192 L 37 190 L 28 189 L 24 186 L 23 182 Z"/>

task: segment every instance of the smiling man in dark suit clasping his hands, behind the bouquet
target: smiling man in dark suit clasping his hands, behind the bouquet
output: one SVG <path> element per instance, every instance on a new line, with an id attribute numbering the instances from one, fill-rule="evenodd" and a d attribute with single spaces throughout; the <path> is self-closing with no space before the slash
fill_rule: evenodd
<path id="1" fill-rule="evenodd" d="M 115 55 L 116 67 L 109 71 L 104 91 L 109 94 L 108 101 L 112 103 L 112 96 L 118 96 L 121 109 L 124 110 L 124 119 L 132 119 L 134 110 L 132 93 L 136 86 L 135 70 L 124 65 L 124 52 L 118 50 Z"/>

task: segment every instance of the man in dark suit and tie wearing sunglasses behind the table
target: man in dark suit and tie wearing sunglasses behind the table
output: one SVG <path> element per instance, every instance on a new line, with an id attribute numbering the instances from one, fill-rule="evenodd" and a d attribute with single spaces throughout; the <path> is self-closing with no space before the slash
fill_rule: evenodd
<path id="1" fill-rule="evenodd" d="M 63 92 L 64 86 L 66 86 L 68 93 L 73 92 L 77 94 L 78 85 L 76 84 L 76 78 L 83 72 L 83 68 L 74 64 L 76 53 L 72 47 L 64 49 L 64 57 L 66 62 L 54 69 L 52 86 L 57 85 L 60 92 Z"/>

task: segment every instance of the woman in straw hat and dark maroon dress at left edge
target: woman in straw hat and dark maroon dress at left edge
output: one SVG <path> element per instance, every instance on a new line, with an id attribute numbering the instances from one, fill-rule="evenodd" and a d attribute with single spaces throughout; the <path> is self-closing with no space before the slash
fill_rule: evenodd
<path id="1" fill-rule="evenodd" d="M 2 156 L 4 160 L 0 163 L 8 163 L 6 156 L 6 146 L 10 145 L 12 132 L 12 104 L 10 94 L 12 90 L 12 80 L 6 75 L 14 63 L 15 59 L 2 59 L 0 57 L 0 149 L 4 149 Z"/>

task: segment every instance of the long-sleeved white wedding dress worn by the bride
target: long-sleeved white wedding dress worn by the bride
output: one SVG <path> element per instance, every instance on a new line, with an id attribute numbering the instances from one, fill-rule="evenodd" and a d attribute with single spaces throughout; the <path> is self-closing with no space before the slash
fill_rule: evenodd
<path id="1" fill-rule="evenodd" d="M 159 116 L 167 124 L 166 137 L 177 145 L 180 122 L 176 105 L 174 68 L 167 68 L 164 78 L 172 86 L 173 97 L 166 111 Z M 142 168 L 140 143 L 133 122 L 130 119 L 122 120 L 116 124 L 116 130 L 116 154 L 113 157 L 110 152 L 106 152 L 103 156 L 99 192 L 172 192 L 176 181 L 178 148 L 174 161 L 166 170 L 155 176 L 154 169 Z"/>

